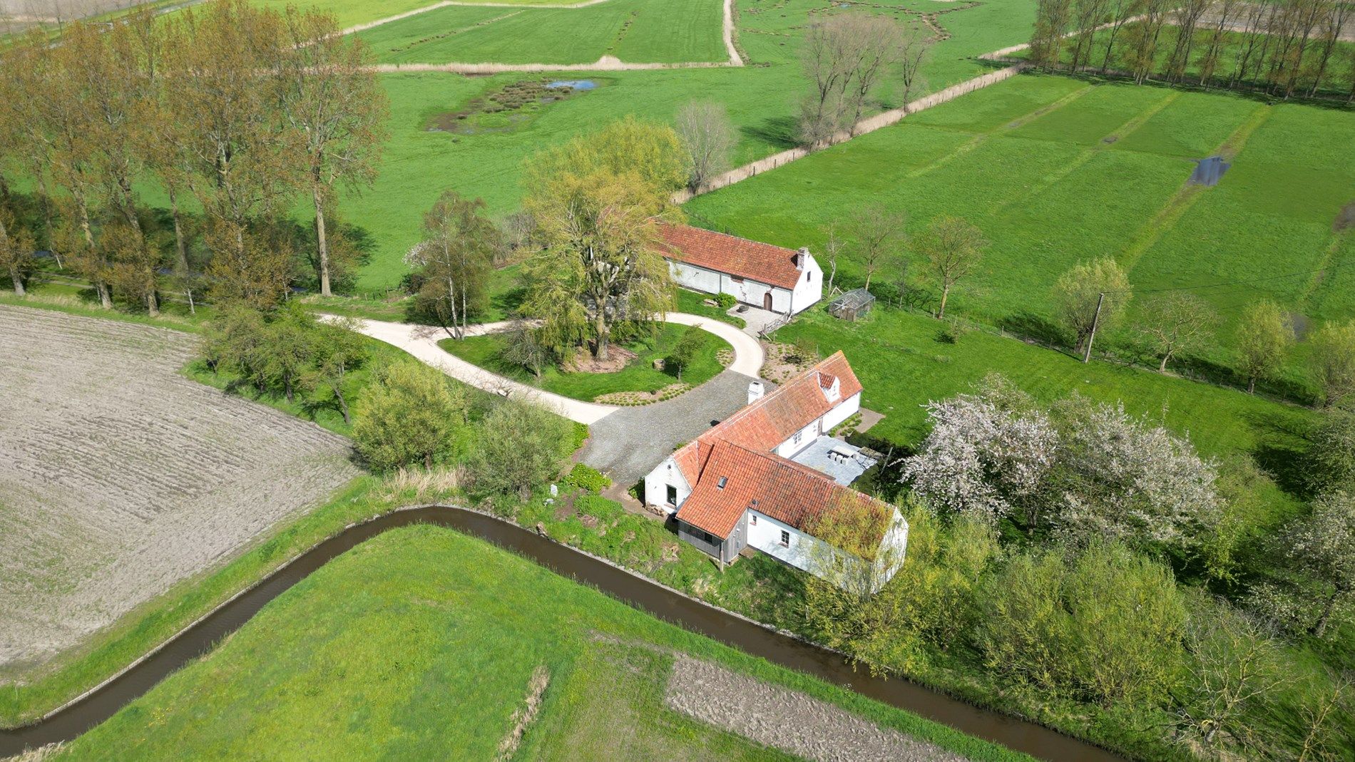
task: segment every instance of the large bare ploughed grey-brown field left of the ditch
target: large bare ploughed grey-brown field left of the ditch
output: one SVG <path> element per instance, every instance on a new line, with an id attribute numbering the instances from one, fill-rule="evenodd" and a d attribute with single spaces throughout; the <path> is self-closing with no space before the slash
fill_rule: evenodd
<path id="1" fill-rule="evenodd" d="M 0 675 L 352 479 L 347 440 L 192 382 L 196 337 L 0 306 Z"/>

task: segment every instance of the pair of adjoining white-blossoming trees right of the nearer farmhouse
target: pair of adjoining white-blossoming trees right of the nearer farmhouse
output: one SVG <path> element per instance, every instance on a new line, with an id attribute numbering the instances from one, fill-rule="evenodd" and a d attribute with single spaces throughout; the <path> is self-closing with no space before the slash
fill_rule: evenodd
<path id="1" fill-rule="evenodd" d="M 1188 545 L 1221 513 L 1213 462 L 1123 406 L 1081 398 L 1050 417 L 1000 380 L 927 406 L 932 430 L 902 479 L 940 509 L 1022 512 L 1073 540 Z"/>

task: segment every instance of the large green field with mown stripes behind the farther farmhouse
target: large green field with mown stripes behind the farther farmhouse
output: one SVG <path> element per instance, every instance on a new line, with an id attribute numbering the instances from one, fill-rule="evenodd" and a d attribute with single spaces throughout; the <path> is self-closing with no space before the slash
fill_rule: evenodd
<path id="1" fill-rule="evenodd" d="M 1252 282 L 1196 291 L 1225 322 L 1262 296 L 1343 318 L 1355 313 L 1355 234 L 1333 221 L 1355 200 L 1352 141 L 1355 111 L 1026 74 L 687 211 L 818 250 L 828 225 L 866 203 L 905 212 L 915 233 L 940 214 L 965 217 L 993 245 L 951 305 L 996 323 L 1043 323 L 1058 275 L 1106 254 L 1144 291 Z M 1233 162 L 1222 181 L 1187 187 L 1191 158 L 1215 153 Z M 850 253 L 839 272 L 844 286 L 863 277 Z"/>

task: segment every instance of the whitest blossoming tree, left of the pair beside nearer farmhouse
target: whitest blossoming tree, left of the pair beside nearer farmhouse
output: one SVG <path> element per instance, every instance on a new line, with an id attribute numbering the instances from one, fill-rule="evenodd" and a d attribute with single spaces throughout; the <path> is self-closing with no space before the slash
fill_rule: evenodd
<path id="1" fill-rule="evenodd" d="M 1038 410 L 1020 414 L 992 384 L 927 405 L 931 434 L 904 462 L 904 480 L 939 508 L 989 521 L 1031 498 L 1054 463 L 1058 434 Z"/>

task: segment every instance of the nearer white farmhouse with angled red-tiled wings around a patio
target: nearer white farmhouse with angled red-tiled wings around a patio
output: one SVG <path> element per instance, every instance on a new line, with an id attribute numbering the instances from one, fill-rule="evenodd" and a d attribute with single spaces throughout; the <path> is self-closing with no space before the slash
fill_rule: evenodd
<path id="1" fill-rule="evenodd" d="M 860 409 L 860 382 L 837 352 L 776 390 L 753 382 L 748 405 L 664 459 L 645 476 L 645 502 L 676 513 L 678 535 L 721 563 L 751 547 L 825 577 L 844 558 L 869 570 L 874 593 L 902 564 L 908 522 L 894 506 L 852 490 L 875 464 L 828 436 Z M 810 532 L 824 512 L 878 517 L 863 562 Z M 835 581 L 837 581 L 835 571 Z"/>

